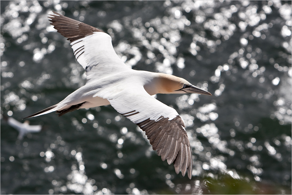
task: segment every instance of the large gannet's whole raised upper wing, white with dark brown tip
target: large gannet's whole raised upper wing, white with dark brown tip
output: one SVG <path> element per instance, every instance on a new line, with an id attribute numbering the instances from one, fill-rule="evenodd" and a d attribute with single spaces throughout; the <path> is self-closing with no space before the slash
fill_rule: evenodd
<path id="1" fill-rule="evenodd" d="M 87 82 L 129 69 L 116 54 L 107 33 L 53 12 L 56 15 L 49 17 L 51 24 L 71 42 L 77 61 L 86 70 Z"/>

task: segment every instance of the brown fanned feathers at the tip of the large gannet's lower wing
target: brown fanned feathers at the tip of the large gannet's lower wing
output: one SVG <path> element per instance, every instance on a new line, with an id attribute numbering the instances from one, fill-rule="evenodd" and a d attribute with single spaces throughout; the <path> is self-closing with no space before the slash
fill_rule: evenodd
<path id="1" fill-rule="evenodd" d="M 181 171 L 185 176 L 188 170 L 188 177 L 191 179 L 192 151 L 187 132 L 184 129 L 185 125 L 180 116 L 172 120 L 162 117 L 157 121 L 148 118 L 137 125 L 145 131 L 153 150 L 157 150 L 162 161 L 166 159 L 168 164 L 173 162 L 177 174 Z"/>

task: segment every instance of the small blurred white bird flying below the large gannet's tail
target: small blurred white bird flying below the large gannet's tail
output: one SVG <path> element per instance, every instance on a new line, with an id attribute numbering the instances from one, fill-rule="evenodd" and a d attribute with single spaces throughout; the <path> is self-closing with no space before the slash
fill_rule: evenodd
<path id="1" fill-rule="evenodd" d="M 24 123 L 20 123 L 12 117 L 9 117 L 7 123 L 19 131 L 17 139 L 22 140 L 23 136 L 27 133 L 37 133 L 42 130 L 42 125 L 29 125 L 29 121 L 26 120 Z"/>

